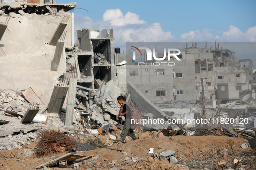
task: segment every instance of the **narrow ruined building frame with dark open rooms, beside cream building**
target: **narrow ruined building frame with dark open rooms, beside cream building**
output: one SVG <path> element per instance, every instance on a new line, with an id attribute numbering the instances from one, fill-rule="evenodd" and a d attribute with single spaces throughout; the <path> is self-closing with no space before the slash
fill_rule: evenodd
<path id="1" fill-rule="evenodd" d="M 97 79 L 105 82 L 116 79 L 113 29 L 102 31 L 78 30 L 78 46 L 82 50 L 76 53 L 81 72 L 79 83 L 94 88 Z"/>

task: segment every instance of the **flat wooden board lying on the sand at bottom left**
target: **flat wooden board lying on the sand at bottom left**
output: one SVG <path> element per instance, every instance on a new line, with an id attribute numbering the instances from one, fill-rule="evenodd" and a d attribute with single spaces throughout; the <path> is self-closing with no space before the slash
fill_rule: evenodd
<path id="1" fill-rule="evenodd" d="M 44 166 L 52 167 L 52 166 L 55 166 L 55 165 L 59 164 L 60 162 L 64 162 L 64 161 L 71 162 L 71 161 L 74 161 L 76 159 L 79 159 L 79 158 L 85 157 L 85 156 L 86 155 L 84 155 L 84 154 L 78 154 L 78 153 L 71 152 L 71 153 L 65 154 L 61 157 L 58 157 L 52 161 L 46 162 L 45 164 L 39 165 L 36 167 L 36 169 L 42 168 Z"/>

